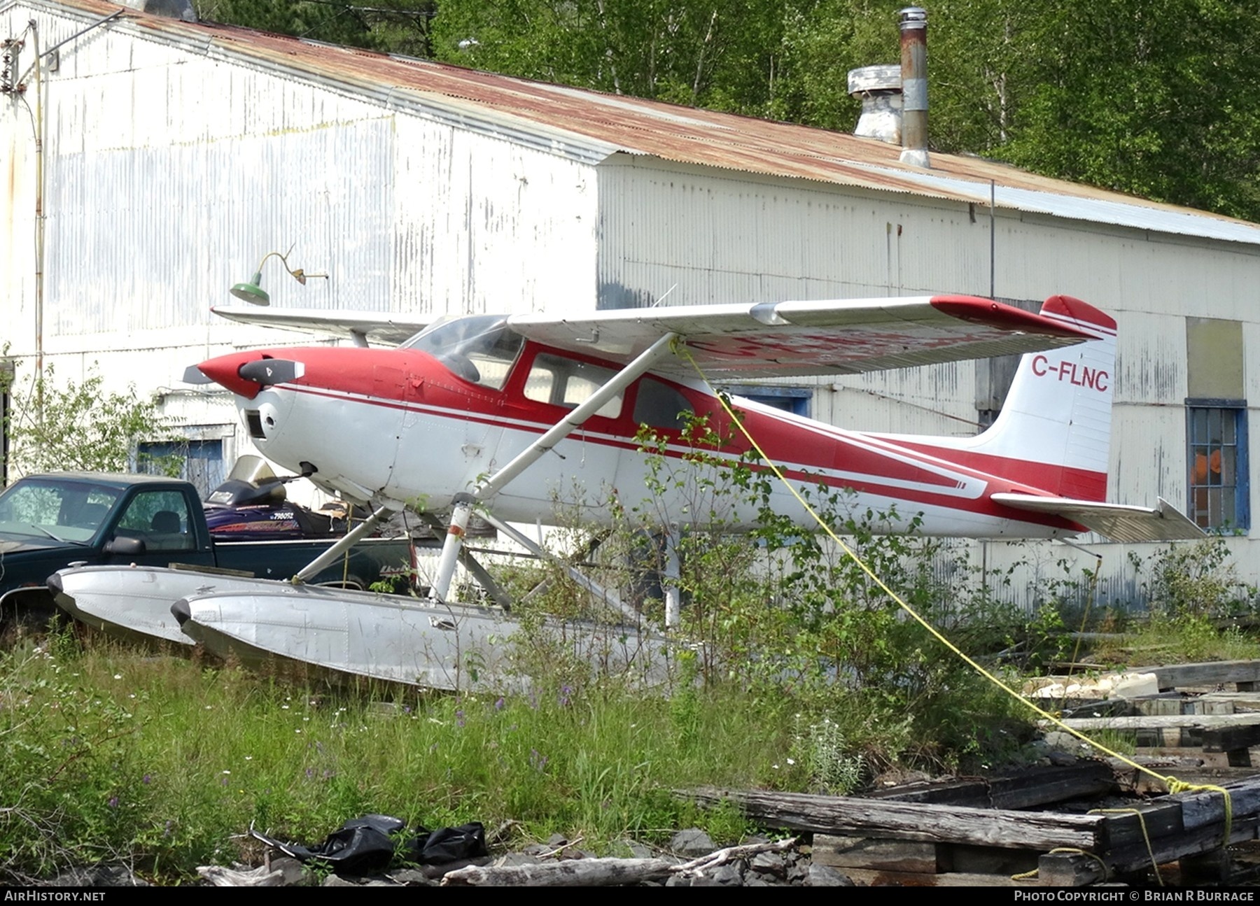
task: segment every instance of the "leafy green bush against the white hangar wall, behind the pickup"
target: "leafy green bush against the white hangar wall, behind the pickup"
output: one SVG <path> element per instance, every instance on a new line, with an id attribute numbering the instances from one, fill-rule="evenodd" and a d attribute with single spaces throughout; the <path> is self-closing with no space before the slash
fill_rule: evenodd
<path id="1" fill-rule="evenodd" d="M 24 399 L 14 401 L 9 439 L 13 459 L 25 471 L 127 471 L 137 441 L 171 439 L 158 407 L 137 397 L 135 387 L 106 392 L 96 370 L 64 386 L 54 377 L 49 365 L 30 381 Z M 179 473 L 178 461 L 152 465 Z"/>

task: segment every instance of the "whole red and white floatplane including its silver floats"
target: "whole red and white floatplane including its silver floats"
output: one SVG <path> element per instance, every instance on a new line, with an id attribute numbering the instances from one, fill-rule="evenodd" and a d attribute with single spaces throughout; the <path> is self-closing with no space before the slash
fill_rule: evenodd
<path id="1" fill-rule="evenodd" d="M 1022 353 L 997 421 L 974 437 L 843 431 L 735 398 L 748 436 L 789 481 L 845 489 L 858 512 L 897 513 L 888 530 L 988 538 L 1058 538 L 1096 530 L 1116 541 L 1197 537 L 1160 500 L 1155 508 L 1104 502 L 1115 321 L 1067 296 L 1031 314 L 971 296 L 919 296 L 765 305 L 713 305 L 546 314 L 469 315 L 432 323 L 363 313 L 219 307 L 226 318 L 350 338 L 354 347 L 273 348 L 220 355 L 186 381 L 213 381 L 236 397 L 243 423 L 270 460 L 315 484 L 375 507 L 373 517 L 295 576 L 295 582 L 198 576 L 175 570 L 79 567 L 50 580 L 81 619 L 171 638 L 183 635 L 244 663 L 276 659 L 436 688 L 461 688 L 461 658 L 481 646 L 480 682 L 495 675 L 504 611 L 449 601 L 457 562 L 491 593 L 493 581 L 462 548 L 474 508 L 501 533 L 548 556 L 512 523 L 547 523 L 557 496 L 587 490 L 586 514 L 609 520 L 607 494 L 626 505 L 648 495 L 651 457 L 640 426 L 663 437 L 679 465 L 692 447 L 688 416 L 748 451 L 709 382 L 853 374 Z M 370 347 L 368 341 L 378 344 Z M 659 455 L 660 447 L 653 452 Z M 753 466 L 759 467 L 759 466 Z M 814 523 L 788 488 L 771 505 Z M 658 489 L 665 498 L 674 491 Z M 428 600 L 329 590 L 304 581 L 377 520 L 422 500 L 451 508 Z M 660 510 L 684 520 L 684 499 Z M 723 524 L 751 524 L 751 505 Z M 669 529 L 674 530 L 674 529 Z M 668 537 L 668 532 L 667 532 Z M 604 600 L 615 597 L 581 572 Z M 175 601 L 175 599 L 179 599 Z M 677 595 L 667 590 L 667 626 Z M 152 606 L 141 607 L 137 601 Z M 173 601 L 174 607 L 163 605 Z M 634 622 L 638 614 L 622 607 Z M 606 663 L 646 673 L 662 636 L 593 628 L 586 641 Z M 629 641 L 627 641 L 629 640 Z"/>

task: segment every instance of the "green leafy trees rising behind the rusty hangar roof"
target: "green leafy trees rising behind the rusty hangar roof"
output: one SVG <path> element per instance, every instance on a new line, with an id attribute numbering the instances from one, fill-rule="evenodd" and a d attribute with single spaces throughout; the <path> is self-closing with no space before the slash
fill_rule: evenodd
<path id="1" fill-rule="evenodd" d="M 197 0 L 208 19 L 848 131 L 903 0 Z M 1260 221 L 1260 54 L 1221 0 L 934 0 L 931 144 Z"/>

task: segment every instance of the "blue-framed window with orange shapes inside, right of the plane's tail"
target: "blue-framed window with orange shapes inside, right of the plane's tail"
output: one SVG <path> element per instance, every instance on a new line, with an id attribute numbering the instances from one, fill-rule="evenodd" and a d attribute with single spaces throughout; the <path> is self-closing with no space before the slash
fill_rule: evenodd
<path id="1" fill-rule="evenodd" d="M 1247 407 L 1242 399 L 1187 399 L 1189 518 L 1206 529 L 1251 528 Z"/>

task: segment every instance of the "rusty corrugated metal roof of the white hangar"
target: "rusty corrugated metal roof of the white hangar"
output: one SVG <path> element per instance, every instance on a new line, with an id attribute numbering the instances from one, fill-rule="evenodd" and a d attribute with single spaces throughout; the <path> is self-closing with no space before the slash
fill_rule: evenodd
<path id="1" fill-rule="evenodd" d="M 92 19 L 98 0 L 32 0 Z M 900 147 L 845 132 L 498 76 L 431 60 L 126 10 L 108 28 L 183 44 L 309 78 L 435 118 L 597 164 L 612 154 L 794 176 L 863 189 L 1043 213 L 1159 233 L 1260 244 L 1260 226 L 1038 176 L 982 158 L 932 152 L 932 168 L 902 165 Z"/>

